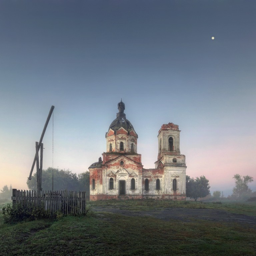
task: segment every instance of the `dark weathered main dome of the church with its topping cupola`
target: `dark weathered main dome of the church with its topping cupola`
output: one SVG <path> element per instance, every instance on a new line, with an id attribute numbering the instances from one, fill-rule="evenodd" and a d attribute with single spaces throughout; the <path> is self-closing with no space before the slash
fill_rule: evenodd
<path id="1" fill-rule="evenodd" d="M 111 128 L 114 131 L 117 131 L 121 127 L 123 127 L 125 130 L 130 132 L 131 130 L 134 130 L 131 122 L 126 119 L 124 110 L 125 110 L 125 104 L 121 101 L 117 104 L 119 113 L 116 114 L 116 119 L 111 123 L 108 130 Z"/>

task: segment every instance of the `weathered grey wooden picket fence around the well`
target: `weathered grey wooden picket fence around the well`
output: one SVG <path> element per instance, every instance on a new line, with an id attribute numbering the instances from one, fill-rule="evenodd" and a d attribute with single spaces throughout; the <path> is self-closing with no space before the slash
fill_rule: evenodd
<path id="1" fill-rule="evenodd" d="M 32 204 L 44 206 L 51 213 L 61 211 L 63 214 L 86 214 L 85 191 L 41 191 L 12 190 L 12 203 Z"/>

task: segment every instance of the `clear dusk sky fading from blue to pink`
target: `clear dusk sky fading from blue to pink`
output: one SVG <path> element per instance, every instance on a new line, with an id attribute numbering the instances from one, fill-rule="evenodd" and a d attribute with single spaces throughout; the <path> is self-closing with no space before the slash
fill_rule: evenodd
<path id="1" fill-rule="evenodd" d="M 144 168 L 173 122 L 187 175 L 255 191 L 255 45 L 255 0 L 1 0 L 0 188 L 27 189 L 52 105 L 43 169 L 88 171 L 122 98 Z"/>

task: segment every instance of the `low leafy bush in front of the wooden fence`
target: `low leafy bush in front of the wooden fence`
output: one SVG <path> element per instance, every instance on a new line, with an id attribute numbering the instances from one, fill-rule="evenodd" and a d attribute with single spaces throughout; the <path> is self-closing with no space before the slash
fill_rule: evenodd
<path id="1" fill-rule="evenodd" d="M 35 206 L 31 203 L 25 205 L 23 203 L 16 203 L 14 206 L 7 204 L 2 208 L 2 215 L 7 223 L 44 218 L 56 219 L 57 217 L 57 213 L 50 213 L 49 210 L 44 209 L 43 205 Z"/>

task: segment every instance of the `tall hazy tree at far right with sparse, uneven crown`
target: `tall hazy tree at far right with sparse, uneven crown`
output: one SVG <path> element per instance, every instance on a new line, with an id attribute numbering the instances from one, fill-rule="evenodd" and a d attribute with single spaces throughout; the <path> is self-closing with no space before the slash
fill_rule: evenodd
<path id="1" fill-rule="evenodd" d="M 253 177 L 246 175 L 242 176 L 240 174 L 235 174 L 233 179 L 235 179 L 235 187 L 233 188 L 233 195 L 237 199 L 243 199 L 248 197 L 252 190 L 248 187 L 248 183 L 253 181 Z"/>

